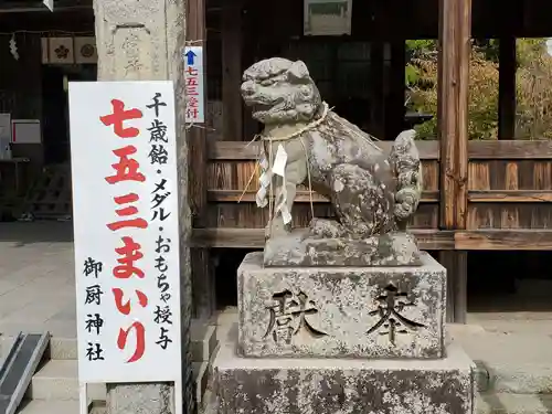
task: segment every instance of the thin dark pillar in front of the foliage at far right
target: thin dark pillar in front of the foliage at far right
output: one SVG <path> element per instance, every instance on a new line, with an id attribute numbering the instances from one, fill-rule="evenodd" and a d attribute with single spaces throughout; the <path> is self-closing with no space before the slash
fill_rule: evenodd
<path id="1" fill-rule="evenodd" d="M 499 40 L 498 139 L 516 138 L 516 38 Z"/>

